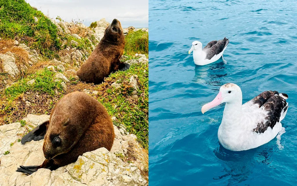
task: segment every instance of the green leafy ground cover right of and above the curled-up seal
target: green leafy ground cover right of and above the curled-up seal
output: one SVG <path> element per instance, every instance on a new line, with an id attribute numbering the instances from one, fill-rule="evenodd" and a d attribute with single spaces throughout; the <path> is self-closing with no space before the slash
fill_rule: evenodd
<path id="1" fill-rule="evenodd" d="M 126 99 L 127 95 L 132 93 L 132 88 L 128 86 L 129 79 L 132 75 L 138 76 L 138 100 L 131 102 Z M 138 141 L 144 148 L 148 148 L 149 122 L 148 122 L 148 106 L 149 106 L 149 69 L 145 63 L 132 65 L 127 71 L 118 71 L 110 74 L 105 80 L 121 82 L 122 88 L 106 89 L 106 95 L 99 96 L 100 101 L 108 110 L 110 116 L 116 116 L 117 121 L 113 124 L 119 126 L 124 124 L 129 133 L 135 134 Z M 116 107 L 115 107 L 116 105 Z"/>

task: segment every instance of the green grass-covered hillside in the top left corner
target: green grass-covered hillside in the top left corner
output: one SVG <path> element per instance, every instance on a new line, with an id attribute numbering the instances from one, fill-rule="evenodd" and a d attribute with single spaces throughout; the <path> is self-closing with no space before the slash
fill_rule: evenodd
<path id="1" fill-rule="evenodd" d="M 61 41 L 56 25 L 25 0 L 0 0 L 0 19 L 0 37 L 23 40 L 45 57 L 58 57 Z"/>

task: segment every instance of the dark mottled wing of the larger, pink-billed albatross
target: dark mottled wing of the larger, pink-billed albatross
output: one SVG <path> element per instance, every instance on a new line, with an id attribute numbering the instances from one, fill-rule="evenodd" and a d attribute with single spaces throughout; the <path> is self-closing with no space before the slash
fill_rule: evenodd
<path id="1" fill-rule="evenodd" d="M 287 98 L 288 95 L 285 93 L 279 94 L 277 91 L 265 91 L 250 100 L 248 103 L 262 108 L 265 115 L 253 131 L 263 133 L 269 126 L 273 128 L 279 122 L 281 115 L 288 109 Z"/>

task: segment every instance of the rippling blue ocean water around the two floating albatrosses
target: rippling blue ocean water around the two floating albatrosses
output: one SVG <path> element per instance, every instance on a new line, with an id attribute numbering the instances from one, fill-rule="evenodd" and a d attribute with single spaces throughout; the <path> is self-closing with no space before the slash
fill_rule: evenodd
<path id="1" fill-rule="evenodd" d="M 295 1 L 149 1 L 149 183 L 296 185 L 297 6 Z M 187 52 L 229 38 L 222 58 L 196 66 Z M 225 83 L 243 102 L 265 90 L 287 93 L 286 132 L 256 149 L 219 145 L 224 105 L 200 112 Z"/>

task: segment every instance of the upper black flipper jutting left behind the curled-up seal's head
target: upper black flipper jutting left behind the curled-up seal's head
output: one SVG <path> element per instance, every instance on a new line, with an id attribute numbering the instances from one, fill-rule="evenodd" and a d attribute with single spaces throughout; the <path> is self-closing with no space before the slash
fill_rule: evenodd
<path id="1" fill-rule="evenodd" d="M 37 125 L 35 129 L 33 129 L 31 132 L 29 132 L 22 138 L 21 143 L 25 144 L 27 141 L 31 141 L 31 140 L 39 141 L 44 139 L 44 136 L 49 124 L 50 124 L 50 121 L 48 120 L 40 125 Z"/>

